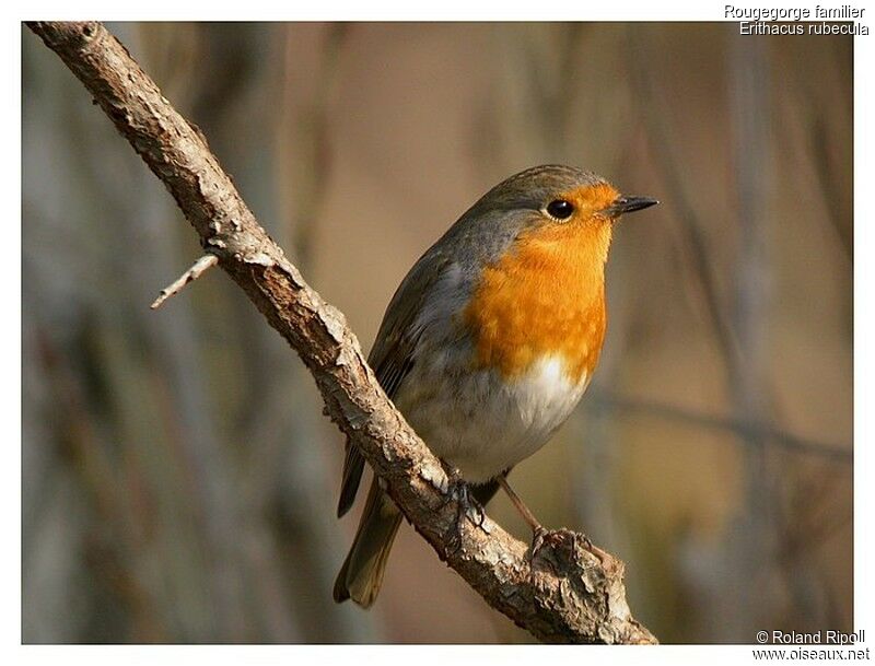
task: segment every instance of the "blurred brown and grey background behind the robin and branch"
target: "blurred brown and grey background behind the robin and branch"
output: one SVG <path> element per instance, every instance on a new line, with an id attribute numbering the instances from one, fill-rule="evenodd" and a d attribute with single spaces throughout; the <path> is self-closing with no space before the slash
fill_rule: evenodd
<path id="1" fill-rule="evenodd" d="M 618 230 L 593 385 L 513 474 L 627 562 L 663 642 L 851 631 L 852 40 L 733 24 L 110 24 L 370 348 L 481 194 L 549 162 Z M 299 359 L 158 179 L 23 43 L 23 641 L 528 642 L 409 526 L 365 612 L 358 511 Z M 527 540 L 500 493 L 489 507 Z"/>

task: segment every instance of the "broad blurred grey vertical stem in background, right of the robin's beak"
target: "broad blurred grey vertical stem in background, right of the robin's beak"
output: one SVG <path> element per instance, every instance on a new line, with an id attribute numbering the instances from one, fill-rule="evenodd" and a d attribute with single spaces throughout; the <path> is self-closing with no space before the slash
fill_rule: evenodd
<path id="1" fill-rule="evenodd" d="M 767 387 L 769 370 L 769 314 L 772 284 L 769 256 L 771 234 L 767 215 L 767 195 L 771 189 L 770 49 L 767 39 L 746 39 L 733 35 L 728 44 L 728 98 L 731 147 L 735 176 L 735 209 L 738 248 L 734 261 L 732 322 L 743 353 L 733 357 L 730 389 L 734 411 L 739 418 L 760 422 L 771 413 Z M 745 502 L 736 525 L 743 538 L 727 537 L 727 548 L 737 574 L 762 575 L 778 565 L 778 533 L 783 502 L 777 459 L 757 433 L 744 437 L 748 444 L 744 458 Z M 738 605 L 736 622 L 750 635 L 757 627 L 774 621 L 777 595 L 750 586 L 727 586 L 727 597 Z"/>

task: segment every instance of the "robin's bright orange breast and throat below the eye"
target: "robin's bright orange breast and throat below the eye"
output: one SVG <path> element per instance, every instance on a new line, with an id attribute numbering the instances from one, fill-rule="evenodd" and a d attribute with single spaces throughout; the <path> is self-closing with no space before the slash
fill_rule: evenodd
<path id="1" fill-rule="evenodd" d="M 605 337 L 610 233 L 592 221 L 546 225 L 485 270 L 465 312 L 479 367 L 511 378 L 556 354 L 569 379 L 592 375 Z"/>

